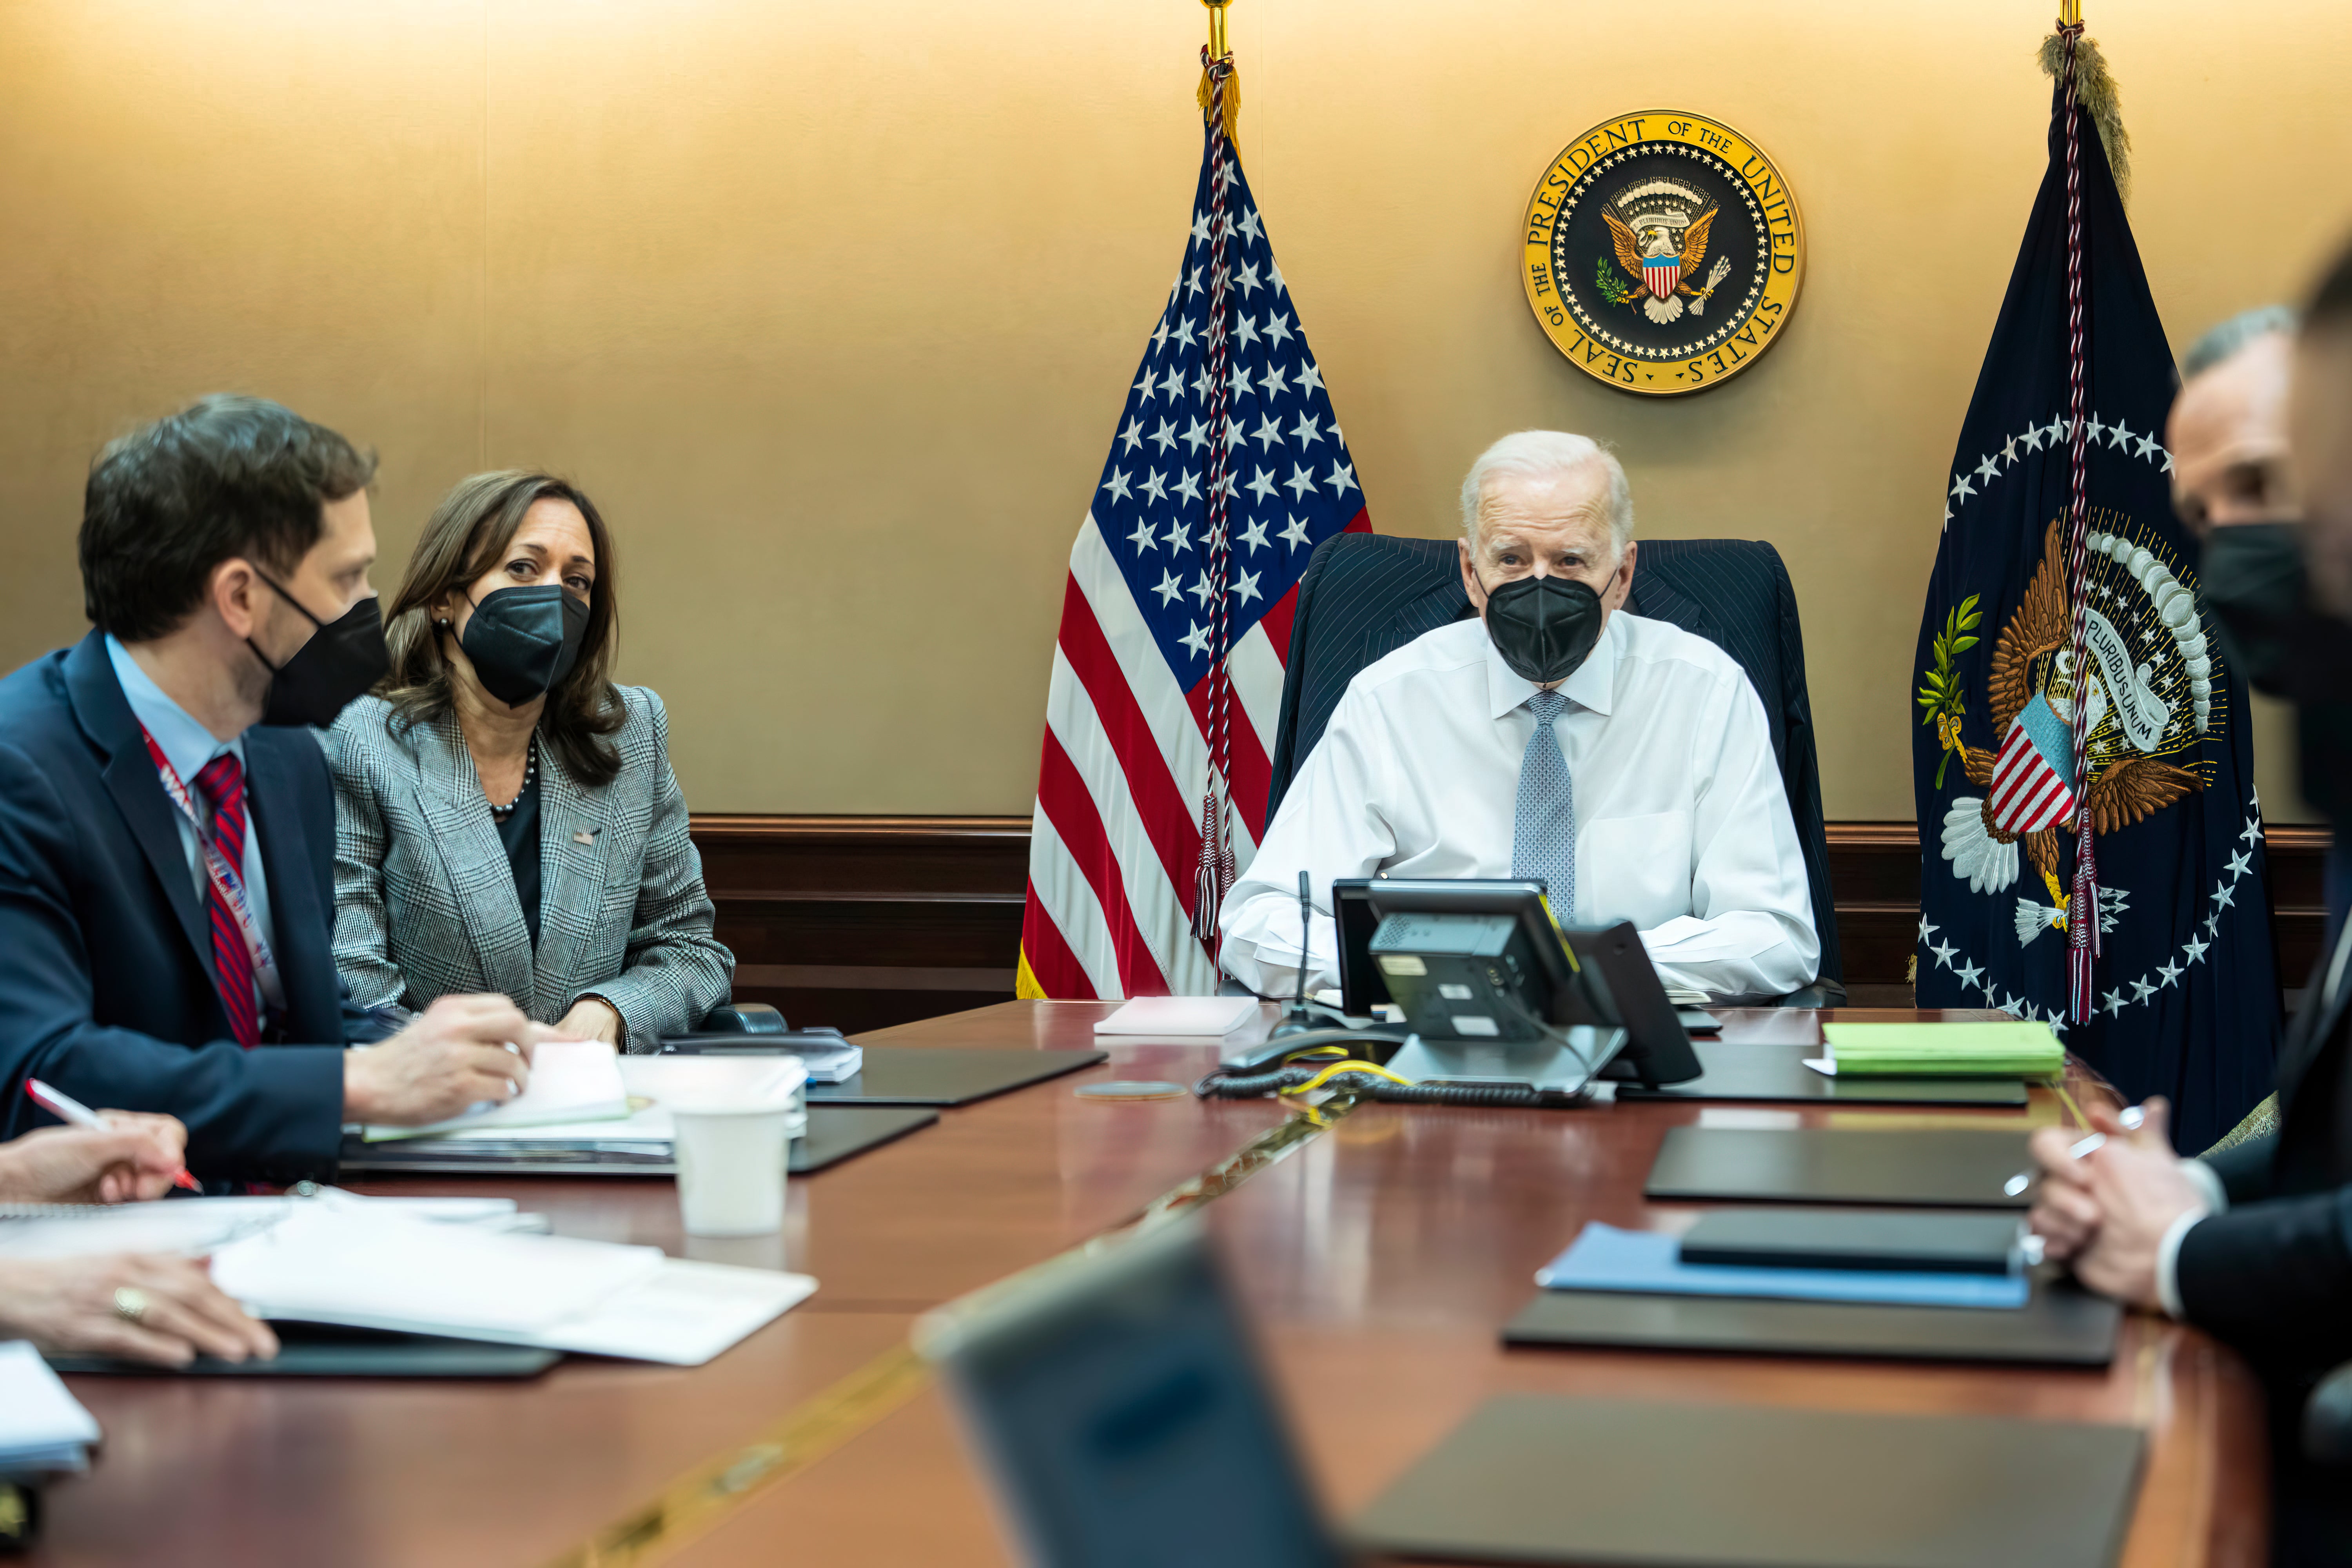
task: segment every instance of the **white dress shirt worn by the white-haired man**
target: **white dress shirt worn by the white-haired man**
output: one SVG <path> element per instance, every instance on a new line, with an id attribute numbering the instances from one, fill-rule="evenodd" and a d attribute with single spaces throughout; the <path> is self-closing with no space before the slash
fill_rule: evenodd
<path id="1" fill-rule="evenodd" d="M 1717 997 L 1811 985 L 1804 849 L 1764 705 L 1719 646 L 1616 611 L 1559 686 L 1576 792 L 1569 926 L 1630 919 L 1668 985 Z M 1268 997 L 1298 976 L 1298 872 L 1315 886 L 1310 990 L 1338 983 L 1338 877 L 1510 877 L 1519 759 L 1536 733 L 1484 621 L 1454 621 L 1362 670 L 1282 797 L 1223 919 L 1225 969 Z"/>

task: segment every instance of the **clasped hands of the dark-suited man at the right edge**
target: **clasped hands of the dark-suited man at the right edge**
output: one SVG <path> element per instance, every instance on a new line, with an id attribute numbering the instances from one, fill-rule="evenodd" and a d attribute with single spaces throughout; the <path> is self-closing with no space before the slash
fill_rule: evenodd
<path id="1" fill-rule="evenodd" d="M 2082 1159 L 2067 1154 L 2074 1135 L 2034 1133 L 2042 1199 L 2032 1227 L 2044 1237 L 2044 1255 L 2072 1260 L 2082 1284 L 2133 1307 L 2159 1307 L 2164 1232 L 2185 1213 L 2204 1213 L 2206 1201 L 2171 1150 L 2164 1100 L 2150 1100 L 2143 1112 L 2145 1121 L 2129 1131 L 2114 1112 L 2093 1112 L 2091 1126 L 2107 1133 L 2107 1143 Z"/>

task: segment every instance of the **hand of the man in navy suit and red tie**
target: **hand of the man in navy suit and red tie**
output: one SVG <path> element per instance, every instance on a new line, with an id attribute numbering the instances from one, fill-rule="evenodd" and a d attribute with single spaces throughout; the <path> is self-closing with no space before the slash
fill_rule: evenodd
<path id="1" fill-rule="evenodd" d="M 562 1037 L 506 997 L 442 997 L 383 1044 L 343 1056 L 343 1119 L 421 1126 L 513 1100 L 543 1039 Z"/>

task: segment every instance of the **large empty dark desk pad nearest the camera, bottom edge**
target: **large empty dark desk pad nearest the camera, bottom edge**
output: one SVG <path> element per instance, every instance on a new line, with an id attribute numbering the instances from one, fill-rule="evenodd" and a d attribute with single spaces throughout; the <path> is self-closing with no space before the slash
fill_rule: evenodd
<path id="1" fill-rule="evenodd" d="M 2136 1427 L 1503 1394 L 1355 1521 L 1390 1556 L 2105 1568 Z"/>

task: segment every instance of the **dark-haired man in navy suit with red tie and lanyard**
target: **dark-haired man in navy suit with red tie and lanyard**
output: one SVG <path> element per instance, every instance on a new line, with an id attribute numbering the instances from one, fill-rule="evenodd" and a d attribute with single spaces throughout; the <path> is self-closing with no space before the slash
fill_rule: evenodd
<path id="1" fill-rule="evenodd" d="M 0 1138 L 40 1077 L 167 1112 L 207 1178 L 329 1175 L 346 1121 L 423 1124 L 529 1079 L 546 1037 L 452 997 L 346 1051 L 322 724 L 383 670 L 374 458 L 207 397 L 89 470 L 92 630 L 0 682 Z M 381 1034 L 381 1030 L 376 1030 Z"/>

